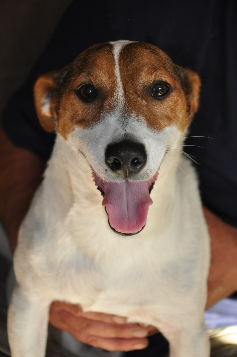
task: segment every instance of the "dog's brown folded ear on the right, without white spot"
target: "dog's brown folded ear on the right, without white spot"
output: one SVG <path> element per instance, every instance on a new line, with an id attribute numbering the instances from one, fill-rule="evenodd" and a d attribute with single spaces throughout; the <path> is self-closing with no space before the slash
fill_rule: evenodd
<path id="1" fill-rule="evenodd" d="M 198 74 L 188 67 L 176 66 L 177 74 L 180 77 L 181 85 L 187 100 L 187 113 L 190 121 L 198 110 L 198 100 L 201 81 Z"/>

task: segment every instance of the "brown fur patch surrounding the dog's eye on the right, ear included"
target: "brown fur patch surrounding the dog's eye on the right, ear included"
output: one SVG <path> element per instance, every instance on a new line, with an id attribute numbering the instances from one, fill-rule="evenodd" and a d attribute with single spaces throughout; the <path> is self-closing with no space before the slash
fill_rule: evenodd
<path id="1" fill-rule="evenodd" d="M 170 57 L 158 47 L 142 42 L 126 45 L 121 51 L 119 64 L 127 102 L 126 115 L 140 115 L 148 126 L 156 130 L 176 125 L 184 131 L 190 115 L 197 111 L 200 85 L 197 74 L 188 70 L 190 75 L 185 75 L 186 70 L 180 67 L 181 83 Z M 151 96 L 151 87 L 156 82 L 166 82 L 171 86 L 168 96 L 163 99 Z M 195 82 L 196 100 L 192 97 L 192 82 Z"/>

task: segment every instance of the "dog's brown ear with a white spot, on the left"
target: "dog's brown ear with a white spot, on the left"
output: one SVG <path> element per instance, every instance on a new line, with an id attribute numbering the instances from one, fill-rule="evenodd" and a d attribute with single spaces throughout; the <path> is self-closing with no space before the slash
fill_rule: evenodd
<path id="1" fill-rule="evenodd" d="M 56 129 L 61 86 L 68 66 L 40 76 L 34 86 L 37 116 L 46 131 Z"/>

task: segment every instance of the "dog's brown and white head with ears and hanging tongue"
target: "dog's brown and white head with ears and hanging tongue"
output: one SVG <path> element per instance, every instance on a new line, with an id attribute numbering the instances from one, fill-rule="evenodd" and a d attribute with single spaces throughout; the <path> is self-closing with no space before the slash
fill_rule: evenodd
<path id="1" fill-rule="evenodd" d="M 195 72 L 130 41 L 92 46 L 37 80 L 41 125 L 83 153 L 116 232 L 145 226 L 153 183 L 197 111 L 199 87 Z"/>

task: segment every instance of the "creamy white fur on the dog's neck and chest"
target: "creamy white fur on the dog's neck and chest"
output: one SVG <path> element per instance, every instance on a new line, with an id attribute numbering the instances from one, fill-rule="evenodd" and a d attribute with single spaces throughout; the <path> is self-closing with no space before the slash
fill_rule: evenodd
<path id="1" fill-rule="evenodd" d="M 20 283 L 49 302 L 79 303 L 85 310 L 117 313 L 136 322 L 151 323 L 166 310 L 170 315 L 172 305 L 175 311 L 192 310 L 190 302 L 200 296 L 197 280 L 202 276 L 205 281 L 207 275 L 208 236 L 195 174 L 188 160 L 182 160 L 182 167 L 167 175 L 165 194 L 162 178 L 156 183 L 145 229 L 121 237 L 107 225 L 100 193 L 91 173 L 84 173 L 85 165 L 71 185 L 69 172 L 61 171 L 62 155 L 60 163 L 55 155 L 36 194 L 37 205 L 33 202 L 21 228 L 15 256 Z M 170 185 L 176 182 L 170 192 L 168 180 Z"/>

